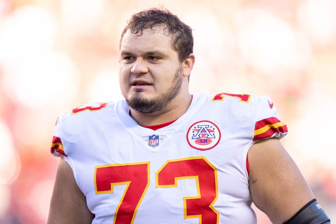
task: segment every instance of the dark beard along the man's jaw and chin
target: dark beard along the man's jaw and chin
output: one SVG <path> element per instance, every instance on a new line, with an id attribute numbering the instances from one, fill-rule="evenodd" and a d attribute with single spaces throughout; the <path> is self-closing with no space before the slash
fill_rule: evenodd
<path id="1" fill-rule="evenodd" d="M 141 94 L 142 91 L 139 90 L 130 98 L 126 98 L 128 105 L 134 110 L 144 114 L 152 114 L 161 111 L 180 92 L 183 82 L 182 72 L 182 68 L 176 71 L 172 85 L 165 94 L 154 99 L 144 99 Z"/>

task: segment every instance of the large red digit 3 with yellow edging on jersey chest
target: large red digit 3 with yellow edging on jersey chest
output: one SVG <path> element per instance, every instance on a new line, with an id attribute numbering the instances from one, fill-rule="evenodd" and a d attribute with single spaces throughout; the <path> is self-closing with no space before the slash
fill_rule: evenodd
<path id="1" fill-rule="evenodd" d="M 180 179 L 195 179 L 197 186 L 197 196 L 183 197 L 184 218 L 218 224 L 219 214 L 213 208 L 218 198 L 216 168 L 203 156 L 168 160 L 156 173 L 156 187 L 177 187 Z"/>

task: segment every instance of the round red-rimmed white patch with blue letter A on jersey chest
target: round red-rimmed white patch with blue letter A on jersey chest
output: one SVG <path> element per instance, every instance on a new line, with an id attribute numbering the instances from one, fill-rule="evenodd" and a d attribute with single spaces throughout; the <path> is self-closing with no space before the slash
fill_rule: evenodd
<path id="1" fill-rule="evenodd" d="M 221 134 L 216 124 L 203 120 L 191 125 L 186 137 L 188 144 L 194 149 L 209 150 L 219 143 Z"/>

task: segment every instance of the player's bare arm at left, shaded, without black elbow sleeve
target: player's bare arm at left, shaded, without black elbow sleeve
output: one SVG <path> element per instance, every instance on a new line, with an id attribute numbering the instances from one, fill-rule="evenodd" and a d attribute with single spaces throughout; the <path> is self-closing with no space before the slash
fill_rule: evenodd
<path id="1" fill-rule="evenodd" d="M 70 165 L 61 158 L 51 196 L 47 224 L 90 224 L 94 215 L 87 208 Z"/>

